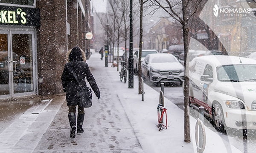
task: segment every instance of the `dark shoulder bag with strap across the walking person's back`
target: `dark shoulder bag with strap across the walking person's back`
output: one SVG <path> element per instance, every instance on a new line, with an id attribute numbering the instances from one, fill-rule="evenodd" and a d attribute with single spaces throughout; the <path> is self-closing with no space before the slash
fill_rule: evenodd
<path id="1" fill-rule="evenodd" d="M 91 91 L 90 87 L 87 87 L 86 85 L 81 85 L 81 83 L 79 82 L 74 71 L 71 70 L 71 72 L 72 72 L 73 76 L 75 77 L 76 82 L 78 82 L 78 84 L 79 84 L 79 87 L 78 87 L 79 93 L 77 94 L 77 95 L 80 95 L 79 105 L 84 108 L 91 107 L 93 95 L 92 95 L 92 91 Z"/>

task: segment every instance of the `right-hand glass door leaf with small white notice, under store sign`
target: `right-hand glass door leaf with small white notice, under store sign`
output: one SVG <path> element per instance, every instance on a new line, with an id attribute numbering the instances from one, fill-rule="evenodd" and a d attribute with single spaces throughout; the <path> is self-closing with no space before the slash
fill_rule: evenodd
<path id="1" fill-rule="evenodd" d="M 13 94 L 35 92 L 33 32 L 11 31 Z"/>

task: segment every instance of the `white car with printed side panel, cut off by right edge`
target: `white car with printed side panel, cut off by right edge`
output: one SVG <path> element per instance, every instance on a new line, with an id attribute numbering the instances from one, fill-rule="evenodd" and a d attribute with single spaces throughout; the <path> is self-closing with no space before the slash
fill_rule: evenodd
<path id="1" fill-rule="evenodd" d="M 216 130 L 256 129 L 256 60 L 210 55 L 190 63 L 190 106 L 203 106 Z"/>

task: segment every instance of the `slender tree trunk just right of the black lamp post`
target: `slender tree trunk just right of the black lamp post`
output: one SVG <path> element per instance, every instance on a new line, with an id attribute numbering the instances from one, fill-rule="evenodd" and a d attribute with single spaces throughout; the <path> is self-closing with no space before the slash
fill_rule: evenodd
<path id="1" fill-rule="evenodd" d="M 142 37 L 143 37 L 143 0 L 140 0 L 140 51 L 139 51 L 139 63 L 138 63 L 138 78 L 139 78 L 139 94 L 142 94 L 142 85 L 141 85 L 141 52 L 142 52 Z"/>

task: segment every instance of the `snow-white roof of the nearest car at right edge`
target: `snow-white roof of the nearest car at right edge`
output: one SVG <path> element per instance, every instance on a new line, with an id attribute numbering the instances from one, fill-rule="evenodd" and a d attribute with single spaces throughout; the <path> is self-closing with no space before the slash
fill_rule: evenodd
<path id="1" fill-rule="evenodd" d="M 195 57 L 195 60 L 207 61 L 212 65 L 231 65 L 231 64 L 256 64 L 256 60 L 245 57 L 227 56 L 227 55 L 209 55 L 202 57 Z M 193 59 L 193 60 L 194 60 Z"/>

